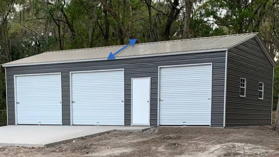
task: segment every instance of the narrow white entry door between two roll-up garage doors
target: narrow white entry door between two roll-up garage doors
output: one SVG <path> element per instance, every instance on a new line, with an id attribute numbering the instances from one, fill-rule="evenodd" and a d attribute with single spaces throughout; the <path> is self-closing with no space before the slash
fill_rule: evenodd
<path id="1" fill-rule="evenodd" d="M 132 78 L 132 125 L 149 125 L 150 78 Z"/>

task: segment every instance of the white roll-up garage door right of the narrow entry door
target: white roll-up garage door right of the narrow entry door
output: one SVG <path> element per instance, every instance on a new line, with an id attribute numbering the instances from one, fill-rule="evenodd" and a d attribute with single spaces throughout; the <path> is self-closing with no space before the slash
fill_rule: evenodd
<path id="1" fill-rule="evenodd" d="M 210 125 L 212 65 L 160 67 L 160 125 Z"/>

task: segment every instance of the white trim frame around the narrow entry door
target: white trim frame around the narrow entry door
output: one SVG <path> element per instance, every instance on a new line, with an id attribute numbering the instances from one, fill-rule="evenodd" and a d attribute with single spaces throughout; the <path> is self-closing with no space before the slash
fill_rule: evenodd
<path id="1" fill-rule="evenodd" d="M 133 80 L 149 79 L 149 104 L 148 104 L 148 124 L 133 124 Z M 131 126 L 150 126 L 150 97 L 151 97 L 151 77 L 132 77 L 131 78 Z"/>

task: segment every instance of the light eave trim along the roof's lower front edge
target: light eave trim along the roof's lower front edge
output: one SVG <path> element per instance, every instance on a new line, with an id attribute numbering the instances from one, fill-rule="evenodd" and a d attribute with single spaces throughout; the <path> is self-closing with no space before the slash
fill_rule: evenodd
<path id="1" fill-rule="evenodd" d="M 206 53 L 206 52 L 219 52 L 227 51 L 228 48 L 218 48 L 218 49 L 208 49 L 208 50 L 195 50 L 195 51 L 183 51 L 183 52 L 170 52 L 170 53 L 160 53 L 160 54 L 148 54 L 148 55 L 138 55 L 138 56 L 125 56 L 117 57 L 118 59 L 129 59 L 129 58 L 143 58 L 143 57 L 157 57 L 157 56 L 168 56 L 168 55 L 179 55 L 179 54 L 191 54 L 191 53 Z M 40 63 L 23 63 L 23 64 L 2 64 L 2 67 L 14 67 L 14 66 L 30 66 L 30 65 L 47 65 L 47 64 L 63 64 L 63 63 L 77 63 L 77 62 L 90 62 L 90 61 L 103 61 L 107 58 L 99 59 L 81 59 L 81 60 L 67 60 L 67 61 L 55 61 L 55 62 L 40 62 Z"/>

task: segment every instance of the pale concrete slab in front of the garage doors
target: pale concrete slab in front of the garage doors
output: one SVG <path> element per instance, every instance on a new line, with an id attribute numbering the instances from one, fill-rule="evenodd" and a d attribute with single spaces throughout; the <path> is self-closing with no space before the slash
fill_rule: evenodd
<path id="1" fill-rule="evenodd" d="M 124 126 L 32 126 L 0 127 L 0 146 L 45 147 L 81 137 L 98 136 L 108 132 L 143 132 L 150 127 Z"/>

